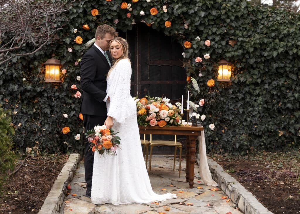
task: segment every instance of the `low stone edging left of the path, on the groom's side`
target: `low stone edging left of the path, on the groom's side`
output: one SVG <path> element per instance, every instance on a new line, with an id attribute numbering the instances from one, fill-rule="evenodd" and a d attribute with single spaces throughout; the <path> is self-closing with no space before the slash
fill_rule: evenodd
<path id="1" fill-rule="evenodd" d="M 70 154 L 67 163 L 61 169 L 61 172 L 56 178 L 55 183 L 53 184 L 38 214 L 59 213 L 61 204 L 63 203 L 67 192 L 66 186 L 69 181 L 72 180 L 80 159 L 80 154 Z"/>

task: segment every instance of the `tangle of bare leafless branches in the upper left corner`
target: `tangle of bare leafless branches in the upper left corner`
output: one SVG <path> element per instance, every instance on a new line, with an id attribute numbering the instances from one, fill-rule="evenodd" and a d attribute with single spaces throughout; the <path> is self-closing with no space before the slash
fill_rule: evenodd
<path id="1" fill-rule="evenodd" d="M 65 11 L 60 1 L 0 0 L 0 65 L 53 42 Z"/>

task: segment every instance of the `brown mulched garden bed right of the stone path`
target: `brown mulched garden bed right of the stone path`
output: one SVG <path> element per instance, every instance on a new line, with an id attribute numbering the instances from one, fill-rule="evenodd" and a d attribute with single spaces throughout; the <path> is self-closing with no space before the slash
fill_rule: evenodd
<path id="1" fill-rule="evenodd" d="M 214 160 L 273 213 L 300 213 L 300 153 L 215 156 Z"/>

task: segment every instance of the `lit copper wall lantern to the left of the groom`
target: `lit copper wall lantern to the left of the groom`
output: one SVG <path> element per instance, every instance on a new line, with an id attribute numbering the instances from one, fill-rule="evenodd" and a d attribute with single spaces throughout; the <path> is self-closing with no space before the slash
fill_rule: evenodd
<path id="1" fill-rule="evenodd" d="M 61 82 L 60 81 L 60 69 L 61 63 L 58 59 L 55 59 L 55 54 L 52 54 L 52 58 L 48 59 L 45 65 L 45 82 Z"/>

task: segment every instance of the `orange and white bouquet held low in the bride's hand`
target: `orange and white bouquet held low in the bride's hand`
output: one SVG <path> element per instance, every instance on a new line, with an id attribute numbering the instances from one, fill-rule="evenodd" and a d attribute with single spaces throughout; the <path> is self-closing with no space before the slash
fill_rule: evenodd
<path id="1" fill-rule="evenodd" d="M 88 130 L 85 135 L 91 143 L 91 150 L 98 151 L 99 154 L 116 155 L 116 150 L 120 148 L 120 138 L 112 129 L 107 129 L 105 125 L 95 126 L 94 129 Z M 120 148 L 121 149 L 121 148 Z"/>

